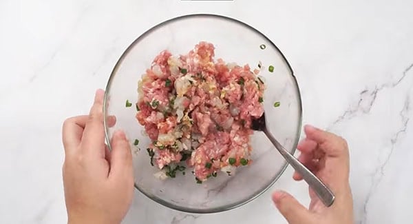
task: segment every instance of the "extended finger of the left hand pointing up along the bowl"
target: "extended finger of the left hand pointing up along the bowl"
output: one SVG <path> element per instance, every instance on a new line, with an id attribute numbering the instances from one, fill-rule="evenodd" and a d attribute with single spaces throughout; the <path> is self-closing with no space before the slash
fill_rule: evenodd
<path id="1" fill-rule="evenodd" d="M 85 153 L 105 158 L 105 130 L 103 128 L 103 90 L 97 90 L 89 112 L 82 146 Z"/>

